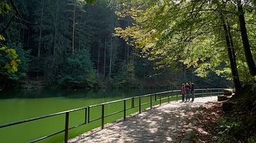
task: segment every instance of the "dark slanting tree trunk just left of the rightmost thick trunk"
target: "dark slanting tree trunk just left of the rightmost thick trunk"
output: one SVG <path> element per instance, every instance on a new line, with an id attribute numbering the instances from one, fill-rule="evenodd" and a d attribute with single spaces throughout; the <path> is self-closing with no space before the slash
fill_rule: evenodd
<path id="1" fill-rule="evenodd" d="M 239 81 L 238 68 L 236 66 L 235 51 L 233 48 L 233 40 L 231 39 L 231 35 L 228 32 L 228 28 L 227 28 L 227 25 L 225 24 L 223 17 L 222 17 L 222 21 L 223 21 L 223 30 L 225 32 L 225 40 L 226 40 L 227 47 L 228 47 L 228 57 L 230 59 L 230 68 L 232 71 L 234 86 L 235 86 L 235 90 L 239 91 L 241 88 L 241 84 Z"/>

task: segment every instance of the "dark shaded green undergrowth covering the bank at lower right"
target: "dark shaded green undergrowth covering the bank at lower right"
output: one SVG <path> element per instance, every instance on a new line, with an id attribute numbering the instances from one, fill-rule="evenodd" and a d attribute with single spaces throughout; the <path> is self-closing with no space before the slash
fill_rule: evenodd
<path id="1" fill-rule="evenodd" d="M 255 139 L 255 87 L 256 84 L 245 85 L 228 102 L 223 103 L 223 109 L 228 111 L 217 122 L 220 132 L 218 137 L 223 139 L 222 142 L 253 142 Z"/>

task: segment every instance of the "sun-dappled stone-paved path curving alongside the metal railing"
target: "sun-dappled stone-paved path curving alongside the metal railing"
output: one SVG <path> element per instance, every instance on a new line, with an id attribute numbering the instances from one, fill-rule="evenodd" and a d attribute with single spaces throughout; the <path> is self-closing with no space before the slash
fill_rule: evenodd
<path id="1" fill-rule="evenodd" d="M 105 125 L 68 142 L 181 142 L 184 127 L 200 105 L 217 101 L 217 97 L 196 98 L 193 103 L 173 101 L 141 114 Z"/>

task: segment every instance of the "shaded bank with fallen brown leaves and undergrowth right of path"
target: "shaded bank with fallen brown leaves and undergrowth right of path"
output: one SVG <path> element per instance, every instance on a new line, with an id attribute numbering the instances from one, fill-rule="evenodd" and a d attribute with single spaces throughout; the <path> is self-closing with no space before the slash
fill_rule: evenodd
<path id="1" fill-rule="evenodd" d="M 198 113 L 193 142 L 256 142 L 256 84 L 229 101 L 205 104 Z"/>

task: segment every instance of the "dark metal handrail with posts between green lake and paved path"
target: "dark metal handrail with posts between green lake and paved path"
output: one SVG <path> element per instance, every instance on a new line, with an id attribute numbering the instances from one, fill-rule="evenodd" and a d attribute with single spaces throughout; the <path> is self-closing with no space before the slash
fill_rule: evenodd
<path id="1" fill-rule="evenodd" d="M 218 90 L 218 92 L 212 92 L 214 90 Z M 218 93 L 222 93 L 223 92 L 223 88 L 200 88 L 200 89 L 195 89 L 195 92 L 196 91 L 202 91 L 202 93 L 194 93 L 194 96 L 195 95 L 206 95 L 206 94 L 210 94 L 210 96 L 212 96 L 212 94 L 216 94 Z M 207 91 L 207 92 L 203 92 L 203 91 Z M 209 93 L 210 91 L 210 93 Z M 220 92 L 221 91 L 221 92 Z M 139 113 L 141 113 L 141 110 L 142 110 L 142 105 L 146 105 L 146 104 L 149 104 L 150 103 L 150 108 L 152 108 L 152 103 L 154 102 L 159 102 L 159 105 L 161 105 L 161 102 L 163 100 L 166 100 L 168 99 L 168 103 L 170 101 L 170 97 L 174 97 L 176 96 L 176 100 L 178 101 L 178 96 L 181 96 L 179 95 L 178 93 L 176 92 L 181 92 L 181 90 L 174 90 L 174 91 L 163 91 L 163 92 L 158 92 L 158 93 L 149 93 L 149 94 L 145 94 L 145 95 L 142 95 L 142 96 L 134 96 L 134 97 L 131 97 L 131 98 L 124 98 L 124 99 L 119 99 L 117 101 L 110 101 L 110 102 L 106 102 L 106 103 L 100 103 L 100 104 L 96 104 L 96 105 L 89 105 L 89 106 L 86 106 L 86 107 L 82 107 L 82 108 L 76 108 L 76 109 L 73 109 L 73 110 L 65 110 L 65 111 L 62 111 L 62 112 L 59 112 L 59 113 L 53 113 L 53 114 L 49 114 L 49 115 L 43 115 L 43 116 L 40 116 L 40 117 L 36 117 L 36 118 L 29 118 L 29 119 L 26 119 L 26 120 L 21 120 L 21 121 L 17 121 L 17 122 L 10 122 L 10 123 L 7 123 L 7 124 L 4 124 L 4 125 L 0 125 L 0 129 L 3 128 L 3 127 L 9 127 L 9 126 L 12 126 L 12 125 L 18 125 L 18 124 L 22 124 L 22 123 L 25 123 L 25 122 L 31 122 L 31 121 L 34 121 L 34 120 L 40 120 L 40 119 L 43 119 L 43 118 L 50 118 L 50 117 L 53 117 L 53 116 L 56 116 L 56 115 L 62 115 L 62 114 L 65 114 L 65 129 L 63 130 L 60 130 L 58 132 L 53 132 L 52 134 L 50 135 L 46 135 L 44 137 L 40 137 L 38 139 L 34 139 L 33 141 L 31 142 L 38 142 L 42 139 L 46 139 L 48 137 L 51 137 L 53 135 L 58 135 L 59 133 L 61 132 L 65 132 L 65 137 L 64 137 L 64 142 L 68 142 L 68 130 L 72 130 L 74 129 L 75 127 L 80 127 L 81 125 L 85 125 L 87 123 L 90 123 L 90 122 L 94 122 L 96 120 L 102 120 L 102 129 L 104 128 L 104 118 L 107 118 L 111 115 L 115 115 L 117 113 L 122 113 L 124 112 L 124 120 L 126 118 L 126 110 L 129 110 L 129 109 L 132 109 L 132 108 L 137 108 L 139 107 Z M 168 96 L 168 97 L 164 97 L 162 98 L 161 97 L 161 94 L 164 94 L 164 93 L 176 93 L 175 95 L 172 95 L 172 96 Z M 152 96 L 154 96 L 154 100 L 152 100 Z M 156 98 L 156 96 L 159 96 L 159 98 Z M 146 102 L 146 103 L 142 103 L 142 98 L 144 97 L 150 97 L 150 101 Z M 134 99 L 136 98 L 139 98 L 139 105 L 134 105 Z M 126 108 L 126 101 L 129 101 L 131 100 L 131 108 Z M 110 113 L 108 115 L 105 115 L 105 105 L 107 104 L 111 104 L 111 103 L 117 103 L 117 102 L 124 102 L 123 105 L 123 110 L 118 110 L 114 113 Z M 95 118 L 95 119 L 92 119 L 90 120 L 90 108 L 94 108 L 94 107 L 97 107 L 97 106 L 102 106 L 102 115 L 100 118 Z M 69 121 L 69 113 L 72 113 L 72 112 L 75 112 L 75 111 L 78 111 L 78 110 L 85 110 L 85 122 L 82 122 L 80 123 L 79 125 L 74 125 L 73 127 L 68 127 L 68 121 Z"/>

